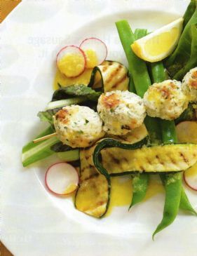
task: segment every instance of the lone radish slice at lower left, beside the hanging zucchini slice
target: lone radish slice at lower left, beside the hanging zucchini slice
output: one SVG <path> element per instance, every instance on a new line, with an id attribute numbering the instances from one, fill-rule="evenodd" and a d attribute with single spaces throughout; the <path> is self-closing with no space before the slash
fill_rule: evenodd
<path id="1" fill-rule="evenodd" d="M 79 184 L 79 175 L 69 163 L 55 163 L 45 175 L 46 187 L 57 195 L 71 194 Z"/>

